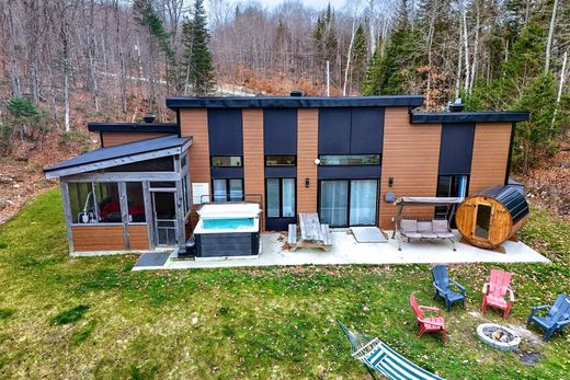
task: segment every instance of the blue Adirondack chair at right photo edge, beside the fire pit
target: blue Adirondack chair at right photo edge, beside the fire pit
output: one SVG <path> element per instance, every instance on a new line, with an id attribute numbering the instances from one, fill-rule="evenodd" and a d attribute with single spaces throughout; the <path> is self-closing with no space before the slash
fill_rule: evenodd
<path id="1" fill-rule="evenodd" d="M 550 309 L 546 315 L 540 316 L 536 314 L 537 311 L 546 309 Z M 566 325 L 570 324 L 570 297 L 558 295 L 555 304 L 542 304 L 531 308 L 526 329 L 528 329 L 531 322 L 534 322 L 545 331 L 544 339 L 548 342 L 555 332 L 562 331 Z"/>

